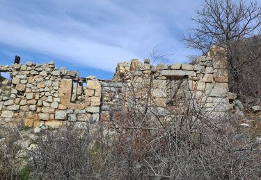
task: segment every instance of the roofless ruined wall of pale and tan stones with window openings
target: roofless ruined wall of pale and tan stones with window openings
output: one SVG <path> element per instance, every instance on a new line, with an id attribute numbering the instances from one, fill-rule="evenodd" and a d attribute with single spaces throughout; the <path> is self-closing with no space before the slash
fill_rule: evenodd
<path id="1" fill-rule="evenodd" d="M 57 69 L 54 62 L 0 65 L 0 72 L 10 72 L 12 78 L 0 86 L 0 125 L 17 120 L 26 127 L 95 123 L 113 120 L 129 105 L 142 109 L 144 102 L 161 116 L 166 109 L 188 107 L 223 115 L 231 105 L 227 63 L 216 58 L 219 51 L 212 48 L 194 65 L 120 62 L 112 80 L 81 78 L 77 71 Z"/>

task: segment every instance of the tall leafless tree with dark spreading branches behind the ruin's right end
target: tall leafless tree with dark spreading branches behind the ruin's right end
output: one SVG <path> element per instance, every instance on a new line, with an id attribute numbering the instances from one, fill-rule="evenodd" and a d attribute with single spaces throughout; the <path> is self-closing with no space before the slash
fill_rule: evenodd
<path id="1" fill-rule="evenodd" d="M 261 60 L 260 38 L 255 44 L 257 48 L 246 48 L 244 58 L 239 56 L 242 55 L 239 52 L 242 46 L 247 43 L 249 45 L 250 41 L 247 39 L 260 33 L 260 4 L 243 0 L 205 0 L 202 8 L 196 10 L 196 16 L 191 17 L 191 21 L 196 23 L 196 27 L 189 29 L 189 33 L 184 35 L 187 46 L 202 53 L 215 45 L 223 47 L 230 70 L 230 90 L 237 91 L 238 88 L 233 87 L 242 80 L 242 71 L 251 62 L 260 63 Z"/>

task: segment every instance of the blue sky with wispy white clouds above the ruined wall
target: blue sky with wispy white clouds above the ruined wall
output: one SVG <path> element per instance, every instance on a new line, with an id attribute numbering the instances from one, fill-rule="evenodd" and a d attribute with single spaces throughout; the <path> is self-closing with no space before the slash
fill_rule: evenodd
<path id="1" fill-rule="evenodd" d="M 0 64 L 49 62 L 110 79 L 117 62 L 158 55 L 185 62 L 181 42 L 201 0 L 0 0 Z"/>

